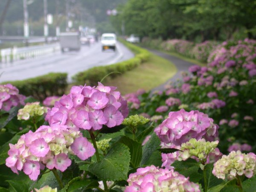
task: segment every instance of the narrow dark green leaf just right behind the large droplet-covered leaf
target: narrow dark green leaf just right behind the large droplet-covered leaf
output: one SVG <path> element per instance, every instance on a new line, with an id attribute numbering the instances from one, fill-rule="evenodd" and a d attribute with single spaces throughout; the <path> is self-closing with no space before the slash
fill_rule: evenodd
<path id="1" fill-rule="evenodd" d="M 140 160 L 142 158 L 142 145 L 134 140 L 131 140 L 128 137 L 121 137 L 118 141 L 119 143 L 123 143 L 130 149 L 131 154 L 131 166 L 133 168 L 137 168 L 140 166 Z"/>

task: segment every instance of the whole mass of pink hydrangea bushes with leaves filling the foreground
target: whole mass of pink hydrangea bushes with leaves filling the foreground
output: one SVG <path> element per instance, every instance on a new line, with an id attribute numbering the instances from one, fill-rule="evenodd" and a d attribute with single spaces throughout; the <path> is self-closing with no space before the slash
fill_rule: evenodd
<path id="1" fill-rule="evenodd" d="M 40 103 L 0 85 L 0 189 L 255 191 L 255 48 L 224 43 L 154 94 L 85 84 Z"/>

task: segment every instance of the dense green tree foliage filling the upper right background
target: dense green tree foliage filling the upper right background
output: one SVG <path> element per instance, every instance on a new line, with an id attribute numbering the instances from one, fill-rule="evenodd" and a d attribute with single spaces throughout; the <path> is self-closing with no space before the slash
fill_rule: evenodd
<path id="1" fill-rule="evenodd" d="M 225 40 L 256 37 L 256 0 L 128 0 L 112 17 L 126 35 Z"/>

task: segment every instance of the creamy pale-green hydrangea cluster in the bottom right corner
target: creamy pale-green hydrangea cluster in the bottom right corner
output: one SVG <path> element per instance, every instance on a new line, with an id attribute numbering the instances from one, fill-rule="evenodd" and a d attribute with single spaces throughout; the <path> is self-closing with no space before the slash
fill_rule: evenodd
<path id="1" fill-rule="evenodd" d="M 256 155 L 254 153 L 244 154 L 241 151 L 231 151 L 223 155 L 214 163 L 212 174 L 220 179 L 232 180 L 237 175 L 245 175 L 250 178 L 256 173 Z"/>

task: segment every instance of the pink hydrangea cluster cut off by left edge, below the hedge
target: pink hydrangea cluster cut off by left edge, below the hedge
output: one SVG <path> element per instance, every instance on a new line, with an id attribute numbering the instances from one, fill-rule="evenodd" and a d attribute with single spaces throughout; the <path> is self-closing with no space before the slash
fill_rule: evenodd
<path id="1" fill-rule="evenodd" d="M 25 96 L 19 94 L 19 90 L 12 84 L 0 85 L 0 109 L 9 111 L 13 106 L 25 105 Z"/>

